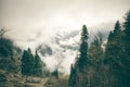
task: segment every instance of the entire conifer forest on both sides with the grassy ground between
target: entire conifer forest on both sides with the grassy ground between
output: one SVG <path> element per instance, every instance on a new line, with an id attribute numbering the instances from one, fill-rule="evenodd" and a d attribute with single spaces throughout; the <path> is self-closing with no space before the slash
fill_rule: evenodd
<path id="1" fill-rule="evenodd" d="M 130 87 L 130 11 L 123 20 L 115 23 L 105 48 L 101 33 L 89 44 L 88 27 L 82 25 L 69 75 L 58 67 L 49 71 L 38 49 L 32 53 L 15 46 L 1 28 L 0 87 Z"/>

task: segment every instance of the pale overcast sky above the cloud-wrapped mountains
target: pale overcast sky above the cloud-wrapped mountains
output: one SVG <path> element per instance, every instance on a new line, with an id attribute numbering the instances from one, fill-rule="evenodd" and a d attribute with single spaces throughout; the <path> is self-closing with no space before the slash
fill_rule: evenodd
<path id="1" fill-rule="evenodd" d="M 57 27 L 77 29 L 122 18 L 130 0 L 0 0 L 0 26 L 16 39 Z"/>

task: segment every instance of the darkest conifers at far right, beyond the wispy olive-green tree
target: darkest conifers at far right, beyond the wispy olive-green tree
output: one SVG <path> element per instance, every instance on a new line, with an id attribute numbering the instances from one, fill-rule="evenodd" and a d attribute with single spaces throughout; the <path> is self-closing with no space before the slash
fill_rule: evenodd
<path id="1" fill-rule="evenodd" d="M 109 33 L 104 66 L 107 66 L 108 70 L 103 69 L 107 72 L 106 79 L 108 83 L 107 87 L 129 87 L 130 84 L 130 39 L 129 30 L 130 29 L 130 12 L 127 14 L 126 22 L 123 23 L 125 30 L 121 30 L 120 24 L 117 21 L 115 28 Z M 129 34 L 129 35 L 127 35 Z M 106 75 L 106 73 L 104 74 Z"/>

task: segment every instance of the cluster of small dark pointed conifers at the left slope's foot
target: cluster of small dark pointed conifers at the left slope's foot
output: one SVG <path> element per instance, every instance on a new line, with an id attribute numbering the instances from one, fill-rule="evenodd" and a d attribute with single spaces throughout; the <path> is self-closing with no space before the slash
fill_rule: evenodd
<path id="1" fill-rule="evenodd" d="M 34 57 L 29 48 L 27 51 L 24 50 L 21 62 L 22 62 L 21 67 L 23 75 L 37 76 L 37 77 L 47 75 L 46 64 L 41 61 L 37 51 Z"/>

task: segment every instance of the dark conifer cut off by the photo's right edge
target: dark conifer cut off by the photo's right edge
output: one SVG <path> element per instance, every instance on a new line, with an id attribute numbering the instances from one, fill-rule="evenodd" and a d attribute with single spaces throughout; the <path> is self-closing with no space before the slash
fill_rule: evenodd
<path id="1" fill-rule="evenodd" d="M 122 64 L 123 64 L 123 73 L 125 73 L 125 86 L 123 87 L 130 87 L 130 10 L 126 13 L 125 22 L 123 22 L 123 28 L 125 28 L 125 54 Z"/>

